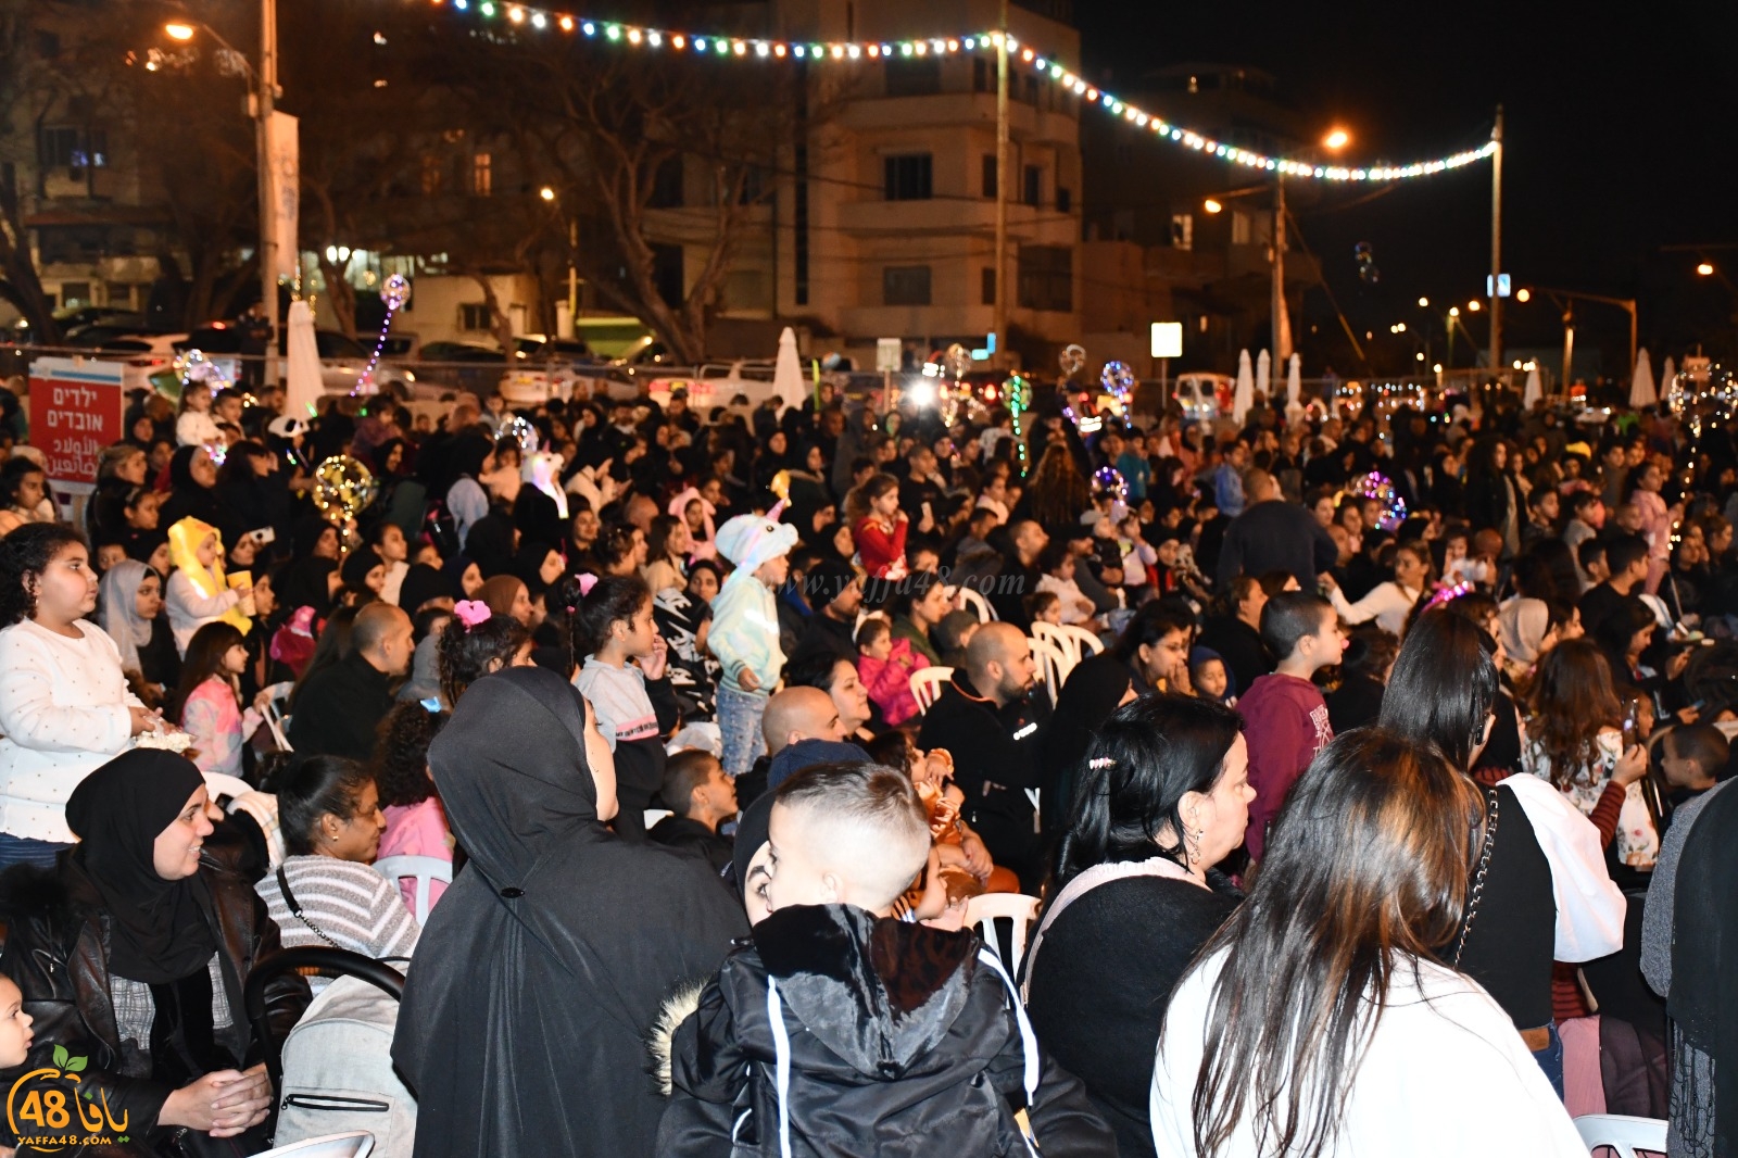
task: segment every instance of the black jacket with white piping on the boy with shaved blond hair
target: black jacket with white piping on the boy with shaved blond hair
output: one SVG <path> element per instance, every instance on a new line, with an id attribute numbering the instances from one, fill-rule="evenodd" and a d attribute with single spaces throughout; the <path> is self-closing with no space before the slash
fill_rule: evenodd
<path id="1" fill-rule="evenodd" d="M 779 1156 L 766 1002 L 775 979 L 789 1033 L 793 1158 L 1024 1158 L 1013 1115 L 1025 1106 L 1025 1040 L 980 946 L 970 932 L 843 904 L 773 913 L 674 1029 L 657 1155 Z M 1043 1155 L 1116 1155 L 1081 1083 L 1043 1052 L 1039 1064 L 1025 1108 Z"/>

